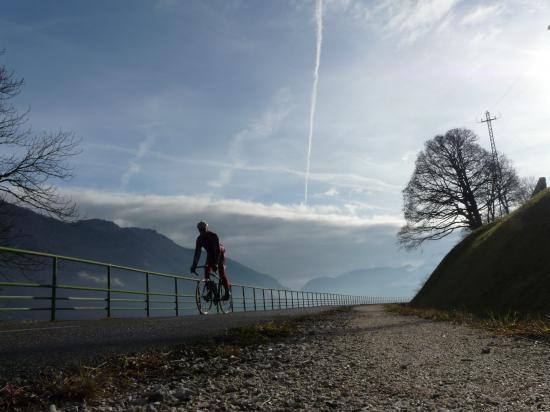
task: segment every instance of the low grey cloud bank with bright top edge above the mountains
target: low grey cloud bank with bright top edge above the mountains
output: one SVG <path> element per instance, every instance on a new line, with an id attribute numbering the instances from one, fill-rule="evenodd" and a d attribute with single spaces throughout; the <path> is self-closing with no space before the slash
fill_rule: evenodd
<path id="1" fill-rule="evenodd" d="M 195 225 L 206 220 L 230 257 L 299 288 L 312 278 L 361 267 L 421 265 L 439 260 L 449 244 L 424 254 L 396 246 L 399 216 L 368 207 L 261 204 L 208 196 L 153 196 L 72 189 L 84 218 L 155 229 L 192 248 Z M 360 213 L 365 213 L 361 215 Z M 370 214 L 367 214 L 370 213 Z M 229 268 L 231 270 L 231 268 Z"/>

